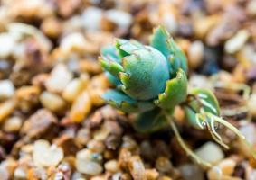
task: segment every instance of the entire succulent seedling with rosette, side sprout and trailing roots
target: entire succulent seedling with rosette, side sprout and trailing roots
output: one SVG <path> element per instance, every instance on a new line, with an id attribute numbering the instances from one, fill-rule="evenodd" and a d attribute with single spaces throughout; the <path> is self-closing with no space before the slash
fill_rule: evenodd
<path id="1" fill-rule="evenodd" d="M 137 40 L 116 40 L 115 47 L 102 49 L 101 67 L 115 89 L 103 99 L 122 112 L 137 113 L 133 121 L 136 130 L 152 132 L 170 123 L 185 152 L 204 166 L 211 166 L 187 148 L 174 122 L 176 105 L 185 110 L 187 121 L 198 129 L 208 129 L 213 139 L 228 148 L 216 132 L 215 125 L 223 124 L 246 141 L 232 124 L 219 117 L 215 96 L 205 89 L 193 89 L 187 94 L 186 58 L 162 26 L 155 29 L 149 46 Z"/>

